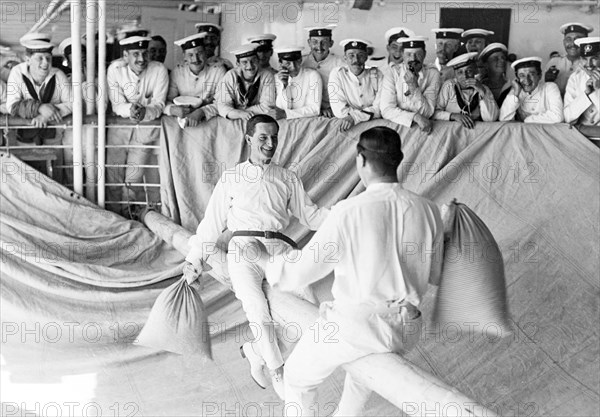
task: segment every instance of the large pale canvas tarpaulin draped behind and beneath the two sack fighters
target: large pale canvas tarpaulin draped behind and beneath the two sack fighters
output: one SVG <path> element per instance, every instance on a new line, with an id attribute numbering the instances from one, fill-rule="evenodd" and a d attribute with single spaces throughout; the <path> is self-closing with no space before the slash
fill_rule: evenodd
<path id="1" fill-rule="evenodd" d="M 598 148 L 564 124 L 478 123 L 467 131 L 439 122 L 429 136 L 384 121 L 347 133 L 322 118 L 281 125 L 275 159 L 299 173 L 317 204 L 360 191 L 357 135 L 386 125 L 403 140 L 405 187 L 440 205 L 453 198 L 467 204 L 499 243 L 515 334 L 493 339 L 428 328 L 408 356 L 412 362 L 502 415 L 598 414 Z M 194 231 L 220 172 L 245 156 L 242 124 L 215 118 L 182 131 L 165 117 L 162 133 L 163 213 Z M 275 394 L 253 385 L 239 357 L 249 332 L 226 288 L 212 282 L 202 293 L 214 324 L 213 363 L 199 369 L 184 357 L 137 346 L 136 331 L 180 274 L 183 256 L 140 224 L 41 176 L 23 176 L 23 169 L 2 156 L 2 367 L 12 384 L 10 392 L 2 384 L 3 404 L 19 402 L 19 384 L 48 388 L 92 375 L 93 388 L 81 395 L 100 404 L 102 415 L 115 403 L 123 415 L 129 403 L 137 407 L 133 415 L 224 415 L 236 407 L 237 415 L 281 415 L 268 405 Z M 309 237 L 297 223 L 287 233 L 299 242 Z M 431 306 L 432 295 L 426 317 Z M 21 322 L 34 333 L 39 323 L 41 340 L 24 334 Z M 48 324 L 68 331 L 69 322 L 78 324 L 71 325 L 75 341 L 51 343 Z M 329 381 L 323 401 L 335 401 L 341 386 L 339 375 Z M 73 395 L 56 398 L 77 401 Z M 415 414 L 426 411 L 415 407 Z M 397 413 L 377 396 L 368 410 Z"/>

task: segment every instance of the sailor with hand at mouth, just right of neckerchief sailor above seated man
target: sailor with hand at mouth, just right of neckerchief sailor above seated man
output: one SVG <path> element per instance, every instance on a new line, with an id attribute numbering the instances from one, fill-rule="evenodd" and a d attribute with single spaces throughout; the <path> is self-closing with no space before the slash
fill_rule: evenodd
<path id="1" fill-rule="evenodd" d="M 277 49 L 281 69 L 275 79 L 278 109 L 286 119 L 316 117 L 321 111 L 323 86 L 319 73 L 302 67 L 302 48 Z"/>

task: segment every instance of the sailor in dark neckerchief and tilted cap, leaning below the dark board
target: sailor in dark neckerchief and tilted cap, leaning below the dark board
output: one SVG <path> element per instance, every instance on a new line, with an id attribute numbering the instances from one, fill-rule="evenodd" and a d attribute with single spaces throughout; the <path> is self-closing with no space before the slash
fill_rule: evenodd
<path id="1" fill-rule="evenodd" d="M 448 67 L 453 69 L 455 75 L 440 89 L 433 114 L 435 120 L 456 121 L 467 129 L 473 129 L 477 120 L 498 120 L 498 105 L 494 95 L 475 78 L 478 55 L 477 52 L 467 52 L 448 62 Z"/>

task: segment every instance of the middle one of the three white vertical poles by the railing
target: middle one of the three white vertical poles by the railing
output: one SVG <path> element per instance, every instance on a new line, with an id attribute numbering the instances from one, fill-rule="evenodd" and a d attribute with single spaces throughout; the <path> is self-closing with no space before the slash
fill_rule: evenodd
<path id="1" fill-rule="evenodd" d="M 85 93 L 85 114 L 93 115 L 96 105 L 96 20 L 98 19 L 96 9 L 96 0 L 87 0 L 86 2 L 86 88 Z M 96 171 L 90 169 L 95 167 L 96 144 L 95 129 L 92 126 L 85 126 L 85 167 L 86 167 L 86 188 L 85 196 L 90 201 L 96 199 Z"/>

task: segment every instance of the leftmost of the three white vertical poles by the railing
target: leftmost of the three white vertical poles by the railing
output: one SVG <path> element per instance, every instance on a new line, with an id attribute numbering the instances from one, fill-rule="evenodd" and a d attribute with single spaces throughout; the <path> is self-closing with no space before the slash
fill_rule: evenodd
<path id="1" fill-rule="evenodd" d="M 82 65 L 81 65 L 81 5 L 79 0 L 71 0 L 71 39 L 73 63 L 73 190 L 83 195 L 83 155 L 82 155 Z"/>

